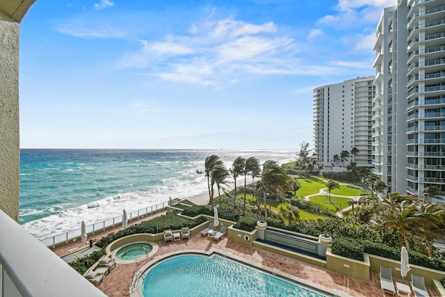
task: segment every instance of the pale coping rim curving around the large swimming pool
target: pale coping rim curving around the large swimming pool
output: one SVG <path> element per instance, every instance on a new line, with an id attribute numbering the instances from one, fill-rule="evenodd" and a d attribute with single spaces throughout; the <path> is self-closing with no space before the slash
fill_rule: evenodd
<path id="1" fill-rule="evenodd" d="M 279 278 L 286 282 L 296 283 L 296 285 L 300 285 L 303 288 L 307 287 L 307 289 L 309 289 L 309 290 L 312 289 L 313 291 L 316 291 L 316 293 L 318 293 L 318 294 L 331 294 L 332 297 L 333 296 L 352 297 L 351 295 L 346 294 L 346 292 L 323 287 L 321 284 L 316 284 L 309 280 L 305 280 L 303 278 L 298 278 L 295 275 L 291 275 L 289 273 L 280 271 L 280 269 L 270 268 L 268 266 L 264 266 L 262 264 L 258 264 L 251 260 L 236 256 L 232 252 L 224 252 L 224 251 L 216 250 L 213 248 L 211 248 L 210 250 L 206 250 L 206 251 L 204 251 L 204 250 L 180 250 L 180 251 L 175 251 L 175 252 L 169 252 L 168 254 L 165 254 L 165 255 L 159 255 L 157 257 L 153 257 L 152 259 L 150 259 L 150 261 L 147 262 L 147 264 L 145 264 L 144 266 L 140 267 L 140 269 L 138 269 L 138 271 L 144 273 L 144 275 L 145 275 L 145 273 L 147 271 L 150 271 L 157 264 L 160 264 L 161 262 L 163 262 L 169 258 L 180 256 L 180 255 L 204 255 L 207 257 L 211 257 L 212 255 L 219 255 L 221 257 L 232 259 L 232 261 L 234 261 L 234 262 L 238 262 L 240 264 L 250 266 L 251 268 L 257 269 L 263 273 L 272 275 L 275 278 Z M 130 297 L 143 297 L 142 284 L 143 284 L 143 279 L 138 278 L 138 280 L 136 280 L 135 285 L 132 288 L 130 288 L 129 296 Z"/>

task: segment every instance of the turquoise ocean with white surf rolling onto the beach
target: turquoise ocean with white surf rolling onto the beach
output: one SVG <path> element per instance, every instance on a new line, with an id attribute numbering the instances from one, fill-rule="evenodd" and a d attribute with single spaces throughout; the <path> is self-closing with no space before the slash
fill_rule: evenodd
<path id="1" fill-rule="evenodd" d="M 19 223 L 37 239 L 207 191 L 204 160 L 286 163 L 296 150 L 20 150 Z"/>

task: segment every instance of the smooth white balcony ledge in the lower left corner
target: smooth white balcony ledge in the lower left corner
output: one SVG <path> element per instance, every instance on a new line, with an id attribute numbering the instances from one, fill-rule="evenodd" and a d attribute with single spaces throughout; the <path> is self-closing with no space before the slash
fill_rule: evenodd
<path id="1" fill-rule="evenodd" d="M 0 225 L 0 296 L 105 297 L 1 210 Z"/>

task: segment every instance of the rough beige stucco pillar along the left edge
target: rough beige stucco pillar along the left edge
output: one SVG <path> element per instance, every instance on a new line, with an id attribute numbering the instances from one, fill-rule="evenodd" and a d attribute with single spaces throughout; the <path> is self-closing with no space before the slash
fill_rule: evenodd
<path id="1" fill-rule="evenodd" d="M 19 31 L 0 12 L 0 209 L 19 219 Z"/>

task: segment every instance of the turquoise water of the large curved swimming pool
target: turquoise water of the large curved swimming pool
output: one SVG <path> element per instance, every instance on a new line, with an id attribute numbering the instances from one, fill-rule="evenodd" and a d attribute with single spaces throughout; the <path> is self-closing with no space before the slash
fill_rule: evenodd
<path id="1" fill-rule="evenodd" d="M 143 296 L 327 296 L 219 256 L 183 255 L 143 280 Z"/>

